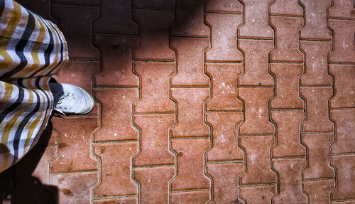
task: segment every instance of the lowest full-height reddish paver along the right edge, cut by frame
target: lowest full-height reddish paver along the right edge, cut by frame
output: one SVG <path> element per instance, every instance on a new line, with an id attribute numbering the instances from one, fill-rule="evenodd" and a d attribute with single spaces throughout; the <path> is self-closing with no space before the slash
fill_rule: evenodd
<path id="1" fill-rule="evenodd" d="M 354 199 L 355 155 L 332 156 L 332 165 L 337 169 L 337 188 L 333 200 Z"/>

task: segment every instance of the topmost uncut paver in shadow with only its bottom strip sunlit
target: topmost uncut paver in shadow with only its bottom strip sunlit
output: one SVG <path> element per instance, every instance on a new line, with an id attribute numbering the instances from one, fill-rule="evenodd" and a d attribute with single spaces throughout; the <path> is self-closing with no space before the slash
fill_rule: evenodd
<path id="1" fill-rule="evenodd" d="M 175 52 L 169 48 L 169 25 L 174 22 L 174 11 L 133 10 L 133 17 L 140 28 L 140 42 L 133 50 L 135 60 L 175 60 Z"/>

